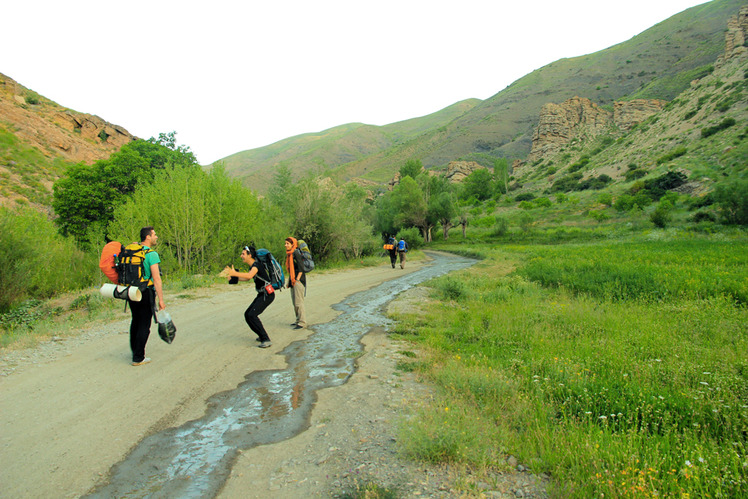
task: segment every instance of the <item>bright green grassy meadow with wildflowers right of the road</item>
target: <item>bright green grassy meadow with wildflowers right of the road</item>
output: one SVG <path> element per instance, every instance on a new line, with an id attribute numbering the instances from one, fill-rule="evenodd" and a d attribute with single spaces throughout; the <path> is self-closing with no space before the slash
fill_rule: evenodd
<path id="1" fill-rule="evenodd" d="M 475 245 L 485 259 L 432 281 L 425 315 L 396 317 L 438 390 L 404 452 L 477 470 L 514 455 L 564 497 L 748 495 L 745 248 Z"/>

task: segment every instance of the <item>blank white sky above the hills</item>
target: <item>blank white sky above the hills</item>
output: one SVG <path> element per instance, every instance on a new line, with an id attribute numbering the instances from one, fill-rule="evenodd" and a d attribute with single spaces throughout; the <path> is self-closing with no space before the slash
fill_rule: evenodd
<path id="1" fill-rule="evenodd" d="M 487 99 L 704 0 L 24 0 L 0 73 L 201 164 L 351 122 Z"/>

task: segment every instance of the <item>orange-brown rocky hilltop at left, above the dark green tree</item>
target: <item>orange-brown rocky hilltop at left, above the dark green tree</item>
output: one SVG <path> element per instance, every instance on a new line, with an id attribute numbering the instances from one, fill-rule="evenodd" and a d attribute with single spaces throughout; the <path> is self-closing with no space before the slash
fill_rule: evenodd
<path id="1" fill-rule="evenodd" d="M 66 109 L 0 74 L 0 125 L 44 155 L 70 162 L 108 158 L 135 140 L 124 128 Z"/>

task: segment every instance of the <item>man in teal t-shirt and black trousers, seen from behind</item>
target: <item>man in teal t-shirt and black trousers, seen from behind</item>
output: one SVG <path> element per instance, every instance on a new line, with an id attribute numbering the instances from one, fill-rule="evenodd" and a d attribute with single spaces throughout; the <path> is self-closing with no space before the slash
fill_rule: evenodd
<path id="1" fill-rule="evenodd" d="M 140 301 L 130 301 L 130 312 L 132 321 L 130 322 L 130 350 L 132 350 L 132 365 L 142 366 L 148 364 L 151 359 L 145 356 L 145 345 L 148 343 L 148 336 L 151 334 L 151 318 L 156 312 L 156 297 L 158 297 L 158 310 L 164 310 L 164 291 L 161 282 L 161 269 L 159 263 L 161 258 L 158 253 L 151 249 L 158 241 L 158 236 L 153 227 L 143 227 L 140 229 L 140 245 L 137 248 L 138 253 L 132 257 L 123 257 L 128 261 L 123 265 L 137 265 L 142 267 L 136 270 L 140 275 L 142 286 L 142 298 Z M 134 245 L 128 245 L 126 249 Z M 124 253 L 124 252 L 123 252 Z M 128 300 L 129 301 L 129 300 Z"/>

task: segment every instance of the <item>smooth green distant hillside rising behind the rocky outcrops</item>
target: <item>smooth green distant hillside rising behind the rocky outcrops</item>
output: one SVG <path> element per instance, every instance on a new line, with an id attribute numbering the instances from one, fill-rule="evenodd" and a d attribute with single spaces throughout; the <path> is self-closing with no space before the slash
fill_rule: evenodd
<path id="1" fill-rule="evenodd" d="M 225 162 L 233 175 L 263 191 L 280 163 L 296 175 L 317 169 L 339 182 L 354 177 L 383 182 L 412 158 L 427 168 L 458 159 L 480 162 L 486 156 L 523 159 L 545 103 L 574 96 L 600 105 L 633 98 L 673 99 L 722 53 L 727 20 L 743 3 L 715 0 L 608 49 L 555 61 L 477 105 L 466 101 L 458 109 L 430 115 L 430 129 L 414 127 L 398 134 L 402 123 L 409 122 L 345 125 L 245 151 Z"/>

